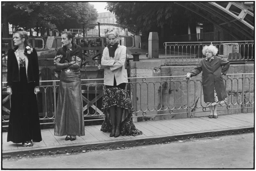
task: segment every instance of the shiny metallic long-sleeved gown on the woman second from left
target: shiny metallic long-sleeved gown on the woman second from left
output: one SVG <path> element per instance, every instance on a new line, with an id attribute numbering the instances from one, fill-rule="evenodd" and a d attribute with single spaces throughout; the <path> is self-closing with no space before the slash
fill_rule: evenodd
<path id="1" fill-rule="evenodd" d="M 81 91 L 81 59 L 72 56 L 75 64 L 68 66 L 68 61 L 59 63 L 62 55 L 54 58 L 54 65 L 62 69 L 58 91 L 57 111 L 55 115 L 54 135 L 84 136 L 84 115 Z M 68 69 L 67 69 L 68 66 Z"/>

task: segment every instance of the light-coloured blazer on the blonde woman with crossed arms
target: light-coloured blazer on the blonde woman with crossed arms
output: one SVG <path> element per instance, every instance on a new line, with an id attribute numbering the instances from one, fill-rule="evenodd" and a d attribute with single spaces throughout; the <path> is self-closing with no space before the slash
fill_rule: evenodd
<path id="1" fill-rule="evenodd" d="M 104 71 L 104 85 L 113 86 L 114 76 L 116 85 L 128 82 L 127 70 L 124 68 L 126 47 L 118 44 L 114 58 L 109 57 L 108 47 L 103 50 L 101 65 L 106 66 Z M 115 60 L 118 60 L 115 64 Z"/>

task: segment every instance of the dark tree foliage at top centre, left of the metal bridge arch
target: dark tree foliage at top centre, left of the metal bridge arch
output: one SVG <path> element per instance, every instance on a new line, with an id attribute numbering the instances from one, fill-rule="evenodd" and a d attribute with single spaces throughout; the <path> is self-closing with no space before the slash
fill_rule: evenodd
<path id="1" fill-rule="evenodd" d="M 161 29 L 169 29 L 172 35 L 187 34 L 188 24 L 196 27 L 203 20 L 173 2 L 108 2 L 106 9 L 116 14 L 119 24 L 142 31 L 145 35 Z"/>

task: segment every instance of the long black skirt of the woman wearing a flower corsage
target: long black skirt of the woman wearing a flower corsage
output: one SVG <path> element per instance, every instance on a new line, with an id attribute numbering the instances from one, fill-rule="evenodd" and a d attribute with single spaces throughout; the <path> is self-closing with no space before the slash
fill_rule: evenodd
<path id="1" fill-rule="evenodd" d="M 7 142 L 42 141 L 34 82 L 27 80 L 20 67 L 20 82 L 13 82 Z"/>

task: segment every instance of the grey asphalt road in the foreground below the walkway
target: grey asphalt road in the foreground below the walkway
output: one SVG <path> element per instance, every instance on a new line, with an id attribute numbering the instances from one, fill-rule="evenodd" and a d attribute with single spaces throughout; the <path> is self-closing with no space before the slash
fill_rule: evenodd
<path id="1" fill-rule="evenodd" d="M 254 134 L 195 138 L 183 142 L 84 153 L 3 159 L 3 168 L 253 168 Z"/>

